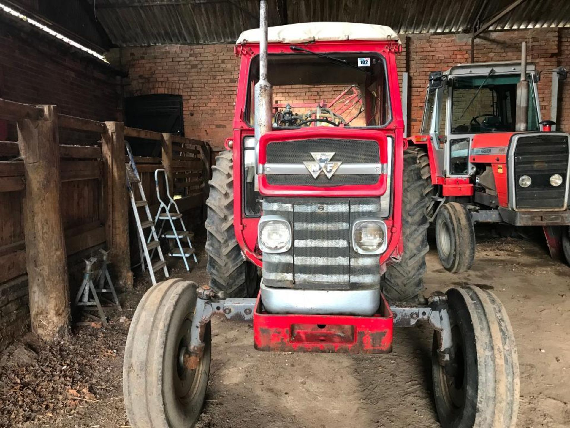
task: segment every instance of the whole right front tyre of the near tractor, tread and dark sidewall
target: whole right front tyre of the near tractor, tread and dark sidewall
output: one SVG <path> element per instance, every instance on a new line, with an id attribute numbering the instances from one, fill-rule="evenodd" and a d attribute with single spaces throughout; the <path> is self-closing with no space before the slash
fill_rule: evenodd
<path id="1" fill-rule="evenodd" d="M 434 333 L 435 407 L 443 428 L 514 428 L 519 408 L 519 364 L 504 306 L 474 286 L 447 291 L 453 353 L 439 363 Z"/>

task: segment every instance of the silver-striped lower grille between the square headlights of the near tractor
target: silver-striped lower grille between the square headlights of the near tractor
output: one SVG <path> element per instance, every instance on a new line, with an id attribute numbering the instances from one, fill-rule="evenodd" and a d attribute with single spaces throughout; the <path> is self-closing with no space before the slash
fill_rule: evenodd
<path id="1" fill-rule="evenodd" d="M 265 285 L 351 290 L 380 282 L 380 256 L 359 255 L 351 243 L 351 224 L 380 217 L 380 198 L 266 197 L 263 215 L 285 217 L 293 233 L 289 251 L 263 254 Z"/>

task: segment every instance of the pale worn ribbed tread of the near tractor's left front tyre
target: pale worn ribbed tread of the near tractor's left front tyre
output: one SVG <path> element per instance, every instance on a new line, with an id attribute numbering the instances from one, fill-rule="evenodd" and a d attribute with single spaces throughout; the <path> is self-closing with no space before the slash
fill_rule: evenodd
<path id="1" fill-rule="evenodd" d="M 164 387 L 161 381 L 164 377 L 162 361 L 165 352 L 168 352 L 165 346 L 168 326 L 165 322 L 175 310 L 181 294 L 189 292 L 196 296 L 196 284 L 192 281 L 174 278 L 159 282 L 145 293 L 133 315 L 123 365 L 125 408 L 133 427 L 172 427 L 161 394 Z M 205 394 L 207 373 L 201 372 L 201 375 L 206 376 L 201 381 Z M 200 414 L 201 405 L 201 402 L 196 403 L 197 415 Z"/>

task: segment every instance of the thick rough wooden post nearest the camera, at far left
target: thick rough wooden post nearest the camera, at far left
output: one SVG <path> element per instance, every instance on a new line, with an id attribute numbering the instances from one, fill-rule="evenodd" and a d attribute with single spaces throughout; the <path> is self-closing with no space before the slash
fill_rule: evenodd
<path id="1" fill-rule="evenodd" d="M 43 118 L 18 120 L 24 161 L 26 268 L 32 331 L 60 340 L 70 328 L 70 291 L 60 207 L 58 115 L 43 106 Z"/>

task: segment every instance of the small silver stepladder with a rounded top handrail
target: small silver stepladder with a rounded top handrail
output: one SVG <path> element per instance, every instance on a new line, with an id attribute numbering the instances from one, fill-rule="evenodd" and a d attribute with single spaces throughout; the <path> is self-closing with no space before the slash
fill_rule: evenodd
<path id="1" fill-rule="evenodd" d="M 158 176 L 162 174 L 164 175 L 164 182 L 166 184 L 166 198 L 168 199 L 168 205 L 162 200 L 162 195 L 160 193 L 160 185 L 158 185 Z M 170 187 L 168 185 L 168 176 L 166 175 L 165 169 L 157 169 L 154 171 L 154 183 L 156 184 L 156 196 L 158 198 L 158 202 L 160 203 L 160 207 L 158 207 L 158 211 L 156 213 L 156 217 L 154 217 L 154 225 L 158 227 L 158 236 L 161 236 L 165 239 L 174 240 L 176 241 L 176 247 L 172 249 L 168 253 L 171 257 L 182 257 L 184 260 L 184 265 L 186 266 L 186 270 L 190 270 L 190 266 L 188 265 L 188 259 L 190 256 L 194 258 L 194 262 L 197 264 L 198 259 L 196 258 L 196 253 L 194 248 L 192 247 L 192 238 L 194 237 L 194 233 L 189 232 L 186 230 L 186 225 L 184 224 L 184 220 L 182 220 L 182 214 L 180 209 L 178 209 L 178 205 L 174 202 L 172 196 L 170 196 Z M 175 221 L 180 222 L 180 227 L 176 227 Z M 168 223 L 167 223 L 168 222 Z M 166 225 L 170 225 L 170 231 L 162 233 Z M 147 243 L 152 242 L 152 235 L 149 235 L 147 238 Z M 182 244 L 188 244 L 188 247 L 184 247 Z"/>

